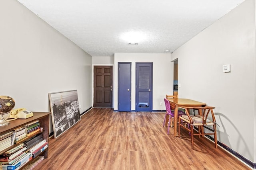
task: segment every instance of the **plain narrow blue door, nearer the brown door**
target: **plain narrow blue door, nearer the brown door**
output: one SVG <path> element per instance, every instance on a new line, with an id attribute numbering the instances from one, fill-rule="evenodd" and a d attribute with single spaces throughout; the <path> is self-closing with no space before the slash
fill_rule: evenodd
<path id="1" fill-rule="evenodd" d="M 118 111 L 131 111 L 131 64 L 118 63 Z"/>

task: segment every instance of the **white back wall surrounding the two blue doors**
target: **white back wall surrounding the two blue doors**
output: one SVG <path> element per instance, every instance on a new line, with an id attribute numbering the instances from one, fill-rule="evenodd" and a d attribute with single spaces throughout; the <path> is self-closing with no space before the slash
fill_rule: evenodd
<path id="1" fill-rule="evenodd" d="M 166 94 L 173 94 L 173 63 L 170 54 L 127 54 L 115 53 L 114 57 L 114 109 L 118 109 L 118 62 L 132 62 L 132 110 L 135 110 L 135 64 L 138 62 L 153 63 L 153 110 L 165 110 Z M 162 102 L 162 106 L 160 106 Z"/>

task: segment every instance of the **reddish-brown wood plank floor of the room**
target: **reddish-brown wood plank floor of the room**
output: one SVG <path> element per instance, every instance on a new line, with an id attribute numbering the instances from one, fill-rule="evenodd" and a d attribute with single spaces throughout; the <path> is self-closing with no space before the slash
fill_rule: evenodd
<path id="1" fill-rule="evenodd" d="M 57 139 L 35 170 L 246 170 L 239 160 L 205 138 L 167 135 L 165 113 L 91 109 Z"/>

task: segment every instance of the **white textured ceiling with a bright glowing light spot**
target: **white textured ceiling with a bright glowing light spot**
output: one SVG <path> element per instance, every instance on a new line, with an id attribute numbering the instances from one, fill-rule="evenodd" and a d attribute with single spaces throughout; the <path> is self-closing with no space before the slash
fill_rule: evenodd
<path id="1" fill-rule="evenodd" d="M 171 53 L 244 0 L 18 1 L 88 54 L 113 56 Z"/>

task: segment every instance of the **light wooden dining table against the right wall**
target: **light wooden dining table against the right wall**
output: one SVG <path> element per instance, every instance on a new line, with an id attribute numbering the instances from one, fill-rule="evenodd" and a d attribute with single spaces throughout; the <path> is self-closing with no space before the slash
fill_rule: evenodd
<path id="1" fill-rule="evenodd" d="M 170 103 L 176 104 L 175 110 L 174 110 L 174 136 L 177 135 L 177 123 L 178 123 L 178 107 L 182 106 L 190 106 L 190 107 L 202 107 L 206 106 L 205 103 L 198 102 L 195 100 L 191 99 L 182 99 L 182 98 L 173 98 L 173 99 L 168 99 Z M 199 113 L 199 115 L 202 115 L 202 113 Z M 166 120 L 168 120 L 169 117 L 166 116 Z M 167 121 L 166 121 L 167 123 Z M 167 124 L 166 124 L 167 126 Z"/>

